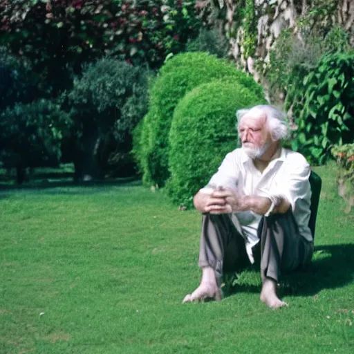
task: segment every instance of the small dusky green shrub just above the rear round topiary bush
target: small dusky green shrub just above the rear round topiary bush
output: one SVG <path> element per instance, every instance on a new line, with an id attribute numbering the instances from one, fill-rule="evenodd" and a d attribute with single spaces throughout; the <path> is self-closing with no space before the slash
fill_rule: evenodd
<path id="1" fill-rule="evenodd" d="M 228 52 L 227 39 L 220 30 L 202 28 L 196 39 L 189 39 L 186 46 L 187 52 L 206 52 L 216 57 L 226 57 Z"/>

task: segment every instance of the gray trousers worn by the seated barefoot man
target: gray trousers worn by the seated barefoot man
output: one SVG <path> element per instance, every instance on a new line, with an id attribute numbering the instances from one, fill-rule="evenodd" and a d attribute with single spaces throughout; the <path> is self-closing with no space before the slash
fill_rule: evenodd
<path id="1" fill-rule="evenodd" d="M 313 256 L 313 242 L 299 234 L 291 209 L 286 214 L 263 216 L 257 232 L 260 242 L 252 251 L 260 261 L 262 279 L 278 281 L 281 272 L 304 267 Z M 221 281 L 223 272 L 237 272 L 249 264 L 236 216 L 203 214 L 199 267 L 214 268 Z"/>

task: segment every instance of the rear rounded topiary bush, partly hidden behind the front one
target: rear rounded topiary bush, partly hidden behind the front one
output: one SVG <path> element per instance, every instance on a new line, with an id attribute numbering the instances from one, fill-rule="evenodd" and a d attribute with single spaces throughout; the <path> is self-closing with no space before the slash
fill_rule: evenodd
<path id="1" fill-rule="evenodd" d="M 143 163 L 149 165 L 150 170 L 144 174 L 149 174 L 154 184 L 163 186 L 169 178 L 168 136 L 178 102 L 196 86 L 221 78 L 242 84 L 257 97 L 263 97 L 263 88 L 251 76 L 237 70 L 234 64 L 207 53 L 182 53 L 162 66 L 150 92 L 150 109 L 156 113 L 149 128 L 151 146 L 146 156 L 149 163 Z"/>

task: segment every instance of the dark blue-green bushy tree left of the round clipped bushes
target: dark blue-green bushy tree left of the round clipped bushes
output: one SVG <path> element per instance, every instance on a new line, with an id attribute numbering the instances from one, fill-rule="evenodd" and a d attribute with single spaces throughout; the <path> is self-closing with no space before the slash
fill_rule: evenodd
<path id="1" fill-rule="evenodd" d="M 110 153 L 119 156 L 118 152 L 131 150 L 133 129 L 147 112 L 147 90 L 145 70 L 109 58 L 89 64 L 74 80 L 68 106 L 84 161 L 78 176 L 102 178 Z"/>

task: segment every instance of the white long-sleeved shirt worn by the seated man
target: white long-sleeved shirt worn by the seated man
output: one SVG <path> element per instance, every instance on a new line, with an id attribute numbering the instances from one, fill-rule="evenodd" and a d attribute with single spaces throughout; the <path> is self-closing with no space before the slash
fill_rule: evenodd
<path id="1" fill-rule="evenodd" d="M 292 207 L 301 236 L 313 241 L 308 227 L 311 198 L 309 176 L 310 166 L 300 153 L 282 148 L 279 158 L 270 161 L 262 173 L 240 148 L 227 153 L 218 171 L 201 192 L 210 192 L 209 186 L 221 186 L 245 196 L 284 196 Z M 235 215 L 241 224 L 246 250 L 253 263 L 252 247 L 259 242 L 257 228 L 262 216 L 252 211 Z"/>

